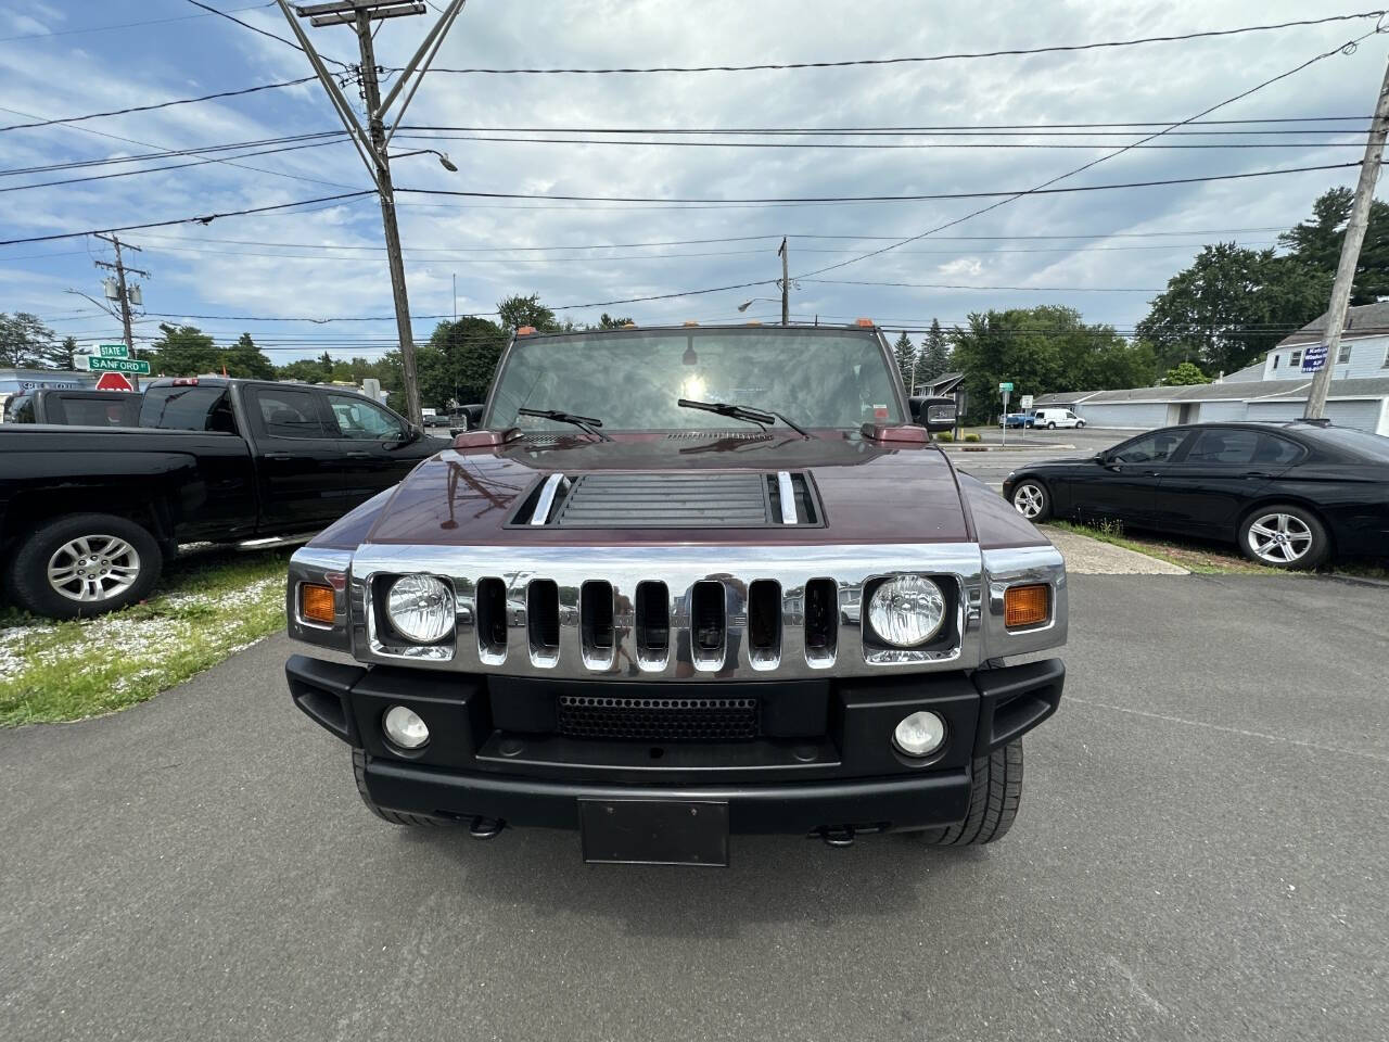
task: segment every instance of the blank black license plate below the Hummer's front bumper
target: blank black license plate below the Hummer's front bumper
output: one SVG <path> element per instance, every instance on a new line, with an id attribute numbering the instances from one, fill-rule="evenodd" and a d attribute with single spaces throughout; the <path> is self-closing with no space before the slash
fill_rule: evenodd
<path id="1" fill-rule="evenodd" d="M 710 800 L 579 800 L 583 860 L 728 864 L 728 804 Z"/>

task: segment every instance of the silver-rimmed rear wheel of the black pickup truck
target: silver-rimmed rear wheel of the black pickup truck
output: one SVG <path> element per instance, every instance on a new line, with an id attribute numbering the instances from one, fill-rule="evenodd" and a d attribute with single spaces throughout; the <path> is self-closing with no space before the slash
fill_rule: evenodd
<path id="1" fill-rule="evenodd" d="M 100 615 L 143 600 L 164 568 L 149 529 L 115 514 L 64 514 L 19 542 L 14 599 L 36 615 Z"/>

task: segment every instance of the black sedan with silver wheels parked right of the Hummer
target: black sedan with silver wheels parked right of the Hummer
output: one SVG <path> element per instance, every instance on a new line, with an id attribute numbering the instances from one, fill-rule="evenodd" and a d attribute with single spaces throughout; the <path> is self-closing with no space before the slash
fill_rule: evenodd
<path id="1" fill-rule="evenodd" d="M 1233 540 L 1275 568 L 1389 556 L 1389 438 L 1315 421 L 1165 427 L 1022 467 L 1003 495 L 1032 521 Z"/>

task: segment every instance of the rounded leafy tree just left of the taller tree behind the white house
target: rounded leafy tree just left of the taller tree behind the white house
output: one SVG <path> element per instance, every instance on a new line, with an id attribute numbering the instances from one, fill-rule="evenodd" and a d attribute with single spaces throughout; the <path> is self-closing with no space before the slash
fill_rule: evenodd
<path id="1" fill-rule="evenodd" d="M 1160 368 L 1190 361 L 1232 372 L 1321 314 L 1331 278 L 1271 249 L 1206 246 L 1153 299 L 1138 335 L 1153 345 Z"/>

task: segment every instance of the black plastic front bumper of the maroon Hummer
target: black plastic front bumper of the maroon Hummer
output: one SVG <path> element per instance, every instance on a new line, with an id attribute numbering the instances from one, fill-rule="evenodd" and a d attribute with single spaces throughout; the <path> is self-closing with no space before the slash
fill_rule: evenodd
<path id="1" fill-rule="evenodd" d="M 518 706 L 539 706 L 567 690 L 633 693 L 626 682 L 518 686 L 297 654 L 286 674 L 307 716 L 367 752 L 364 784 L 382 807 L 578 828 L 581 800 L 693 800 L 726 803 L 731 832 L 807 835 L 963 821 L 974 759 L 1051 716 L 1065 667 L 1053 659 L 872 681 L 681 685 L 681 696 L 717 689 L 749 693 L 771 707 L 764 720 L 772 734 L 726 743 L 590 741 L 518 729 L 546 725 L 543 713 L 526 718 Z M 668 685 L 664 693 L 672 693 Z M 429 725 L 424 750 L 406 753 L 382 739 L 381 718 L 392 704 L 408 706 Z M 797 706 L 810 709 L 797 714 Z M 947 722 L 946 746 L 925 763 L 901 756 L 890 742 L 897 721 L 917 710 Z"/>

